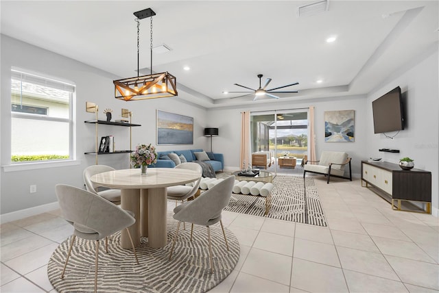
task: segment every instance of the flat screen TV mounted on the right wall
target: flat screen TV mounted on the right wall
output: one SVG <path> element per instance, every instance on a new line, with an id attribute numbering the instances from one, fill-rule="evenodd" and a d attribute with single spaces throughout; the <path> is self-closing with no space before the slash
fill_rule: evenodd
<path id="1" fill-rule="evenodd" d="M 375 133 L 404 129 L 401 88 L 398 86 L 372 102 Z"/>

